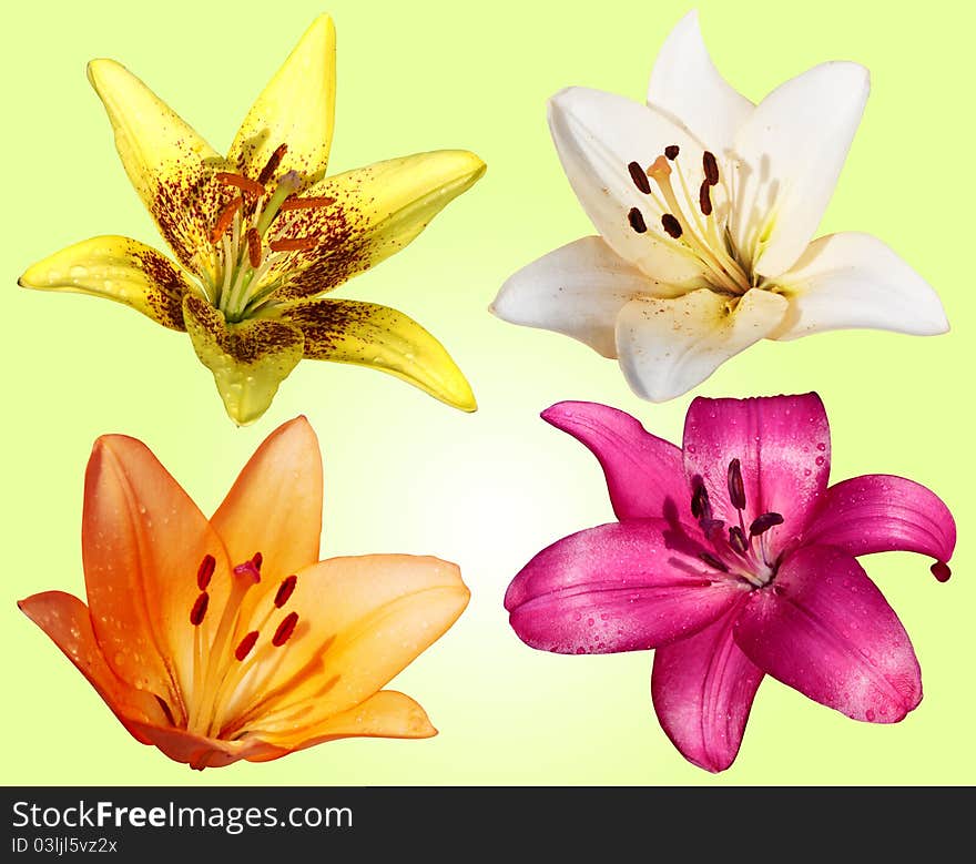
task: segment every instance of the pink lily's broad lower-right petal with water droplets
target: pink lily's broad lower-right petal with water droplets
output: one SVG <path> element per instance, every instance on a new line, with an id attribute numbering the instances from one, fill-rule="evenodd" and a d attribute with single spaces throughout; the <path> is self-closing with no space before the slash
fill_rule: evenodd
<path id="1" fill-rule="evenodd" d="M 846 552 L 807 546 L 755 591 L 735 641 L 756 665 L 854 720 L 894 723 L 922 700 L 922 673 L 894 610 Z"/>

